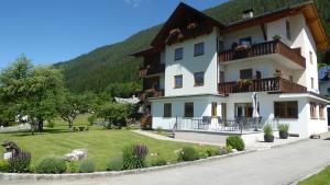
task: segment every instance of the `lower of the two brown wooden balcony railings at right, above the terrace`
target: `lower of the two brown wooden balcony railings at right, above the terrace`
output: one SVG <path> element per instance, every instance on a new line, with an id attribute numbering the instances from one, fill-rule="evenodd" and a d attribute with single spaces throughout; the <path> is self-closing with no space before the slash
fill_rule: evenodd
<path id="1" fill-rule="evenodd" d="M 282 78 L 268 78 L 251 81 L 235 81 L 219 83 L 219 93 L 242 93 L 242 92 L 283 92 L 301 93 L 307 92 L 307 88 Z"/>

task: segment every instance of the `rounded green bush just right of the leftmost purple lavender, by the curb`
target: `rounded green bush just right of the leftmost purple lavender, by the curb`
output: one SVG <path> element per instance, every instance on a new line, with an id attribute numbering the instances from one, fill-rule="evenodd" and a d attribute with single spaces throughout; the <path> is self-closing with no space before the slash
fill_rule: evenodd
<path id="1" fill-rule="evenodd" d="M 66 171 L 66 164 L 64 159 L 61 158 L 46 158 L 37 164 L 35 171 L 37 173 L 64 173 Z"/>

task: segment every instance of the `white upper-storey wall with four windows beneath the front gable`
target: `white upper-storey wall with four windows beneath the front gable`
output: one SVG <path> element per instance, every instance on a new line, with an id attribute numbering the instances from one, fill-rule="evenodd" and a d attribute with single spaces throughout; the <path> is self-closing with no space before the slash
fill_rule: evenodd
<path id="1" fill-rule="evenodd" d="M 215 30 L 209 35 L 198 36 L 165 48 L 165 96 L 218 93 L 217 88 L 217 34 Z M 204 42 L 205 54 L 194 57 L 194 46 Z M 176 48 L 184 48 L 184 59 L 174 61 Z M 205 71 L 202 86 L 195 86 L 194 72 Z M 183 88 L 174 88 L 174 77 L 183 74 Z"/>

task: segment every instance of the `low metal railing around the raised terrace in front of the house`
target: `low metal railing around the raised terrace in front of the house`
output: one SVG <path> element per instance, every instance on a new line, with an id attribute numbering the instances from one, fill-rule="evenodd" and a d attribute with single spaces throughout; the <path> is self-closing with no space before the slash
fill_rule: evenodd
<path id="1" fill-rule="evenodd" d="M 182 118 L 176 117 L 173 131 L 176 130 L 204 130 L 204 131 L 261 131 L 264 125 L 277 129 L 277 119 L 263 119 L 262 117 L 237 117 L 221 119 L 220 117 Z"/>

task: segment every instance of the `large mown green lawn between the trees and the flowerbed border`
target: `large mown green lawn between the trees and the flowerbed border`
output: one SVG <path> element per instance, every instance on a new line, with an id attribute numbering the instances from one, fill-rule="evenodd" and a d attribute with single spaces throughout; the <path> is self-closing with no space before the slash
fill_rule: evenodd
<path id="1" fill-rule="evenodd" d="M 14 141 L 22 149 L 30 151 L 32 153 L 32 166 L 45 157 L 62 157 L 74 149 L 86 148 L 88 149 L 88 158 L 97 163 L 98 171 L 105 170 L 107 161 L 110 158 L 120 155 L 122 148 L 131 143 L 146 144 L 150 153 L 157 152 L 172 162 L 177 159 L 175 150 L 184 146 L 193 146 L 183 142 L 155 140 L 127 129 L 103 130 L 100 127 L 91 127 L 89 131 L 68 132 L 67 126 L 62 124 L 34 136 L 31 136 L 29 131 L 0 134 L 0 142 L 3 140 Z M 1 153 L 2 151 L 3 148 L 0 149 Z M 151 158 L 148 154 L 147 161 Z"/>

